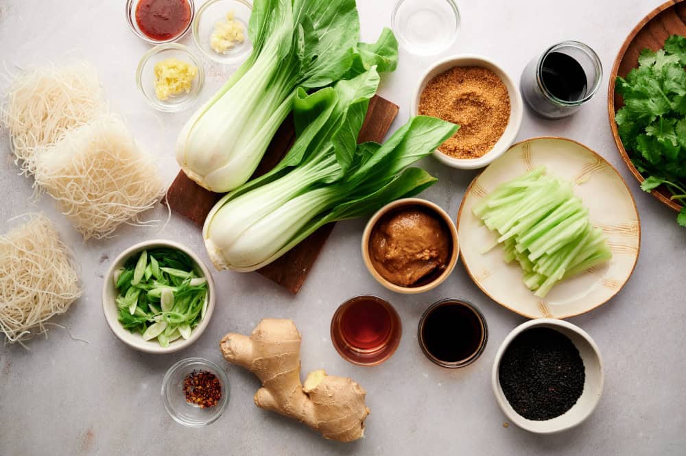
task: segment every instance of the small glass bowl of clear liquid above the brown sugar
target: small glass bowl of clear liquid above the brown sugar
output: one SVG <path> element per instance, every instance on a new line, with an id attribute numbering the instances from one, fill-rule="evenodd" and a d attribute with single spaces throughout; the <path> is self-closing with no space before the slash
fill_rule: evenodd
<path id="1" fill-rule="evenodd" d="M 391 27 L 408 51 L 432 56 L 451 47 L 460 29 L 460 10 L 454 0 L 400 0 Z"/>

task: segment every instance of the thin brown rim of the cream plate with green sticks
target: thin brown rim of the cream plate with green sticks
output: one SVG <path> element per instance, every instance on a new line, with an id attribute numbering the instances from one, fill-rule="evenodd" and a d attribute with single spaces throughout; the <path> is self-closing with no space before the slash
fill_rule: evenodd
<path id="1" fill-rule="evenodd" d="M 591 152 L 592 154 L 594 154 L 595 156 L 598 156 L 601 160 L 603 160 L 604 163 L 606 163 L 608 165 L 608 167 L 610 167 L 611 169 L 613 169 L 615 171 L 615 173 L 617 173 L 617 176 L 619 176 L 619 179 L 622 180 L 624 187 L 626 187 L 626 191 L 628 191 L 628 193 L 629 193 L 629 197 L 631 198 L 631 202 L 634 205 L 634 210 L 636 211 L 636 218 L 638 221 L 638 241 L 639 242 L 638 242 L 638 246 L 637 246 L 637 250 L 636 250 L 636 259 L 634 260 L 634 264 L 631 267 L 631 272 L 626 277 L 626 280 L 624 280 L 624 283 L 622 283 L 622 286 L 619 287 L 619 289 L 617 289 L 617 291 L 615 291 L 615 293 L 612 296 L 610 296 L 609 298 L 607 298 L 603 302 L 600 302 L 598 305 L 596 305 L 595 307 L 592 307 L 591 309 L 587 309 L 583 312 L 573 313 L 570 315 L 561 315 L 561 316 L 549 317 L 549 318 L 553 318 L 554 320 L 567 320 L 567 318 L 578 317 L 579 315 L 584 315 L 584 313 L 589 313 L 591 311 L 594 311 L 595 309 L 598 309 L 598 307 L 602 306 L 603 304 L 606 304 L 608 301 L 615 298 L 615 296 L 617 296 L 619 294 L 619 292 L 622 291 L 622 289 L 624 289 L 626 284 L 629 282 L 631 277 L 634 275 L 634 272 L 636 271 L 636 265 L 638 264 L 639 257 L 641 256 L 641 242 L 643 241 L 643 232 L 641 231 L 641 214 L 639 213 L 638 206 L 636 206 L 636 199 L 635 199 L 634 195 L 632 195 L 631 190 L 629 189 L 629 186 L 626 183 L 626 180 L 624 180 L 624 176 L 622 176 L 622 174 L 620 174 L 619 171 L 617 171 L 617 168 L 615 168 L 612 165 L 612 163 L 608 162 L 608 160 L 606 158 L 604 158 L 602 155 L 598 154 L 598 152 L 595 152 L 595 150 L 591 149 L 591 147 L 584 145 L 578 141 L 574 141 L 573 139 L 569 139 L 569 138 L 563 138 L 562 136 L 534 136 L 533 138 L 524 139 L 522 141 L 514 143 L 512 145 L 512 147 L 510 147 L 510 149 L 508 149 L 508 151 L 505 152 L 505 154 L 510 152 L 510 150 L 514 149 L 514 147 L 518 147 L 519 145 L 521 145 L 523 143 L 528 143 L 530 141 L 537 141 L 539 139 L 556 139 L 556 140 L 562 140 L 562 141 L 569 141 L 570 143 L 574 143 L 576 145 L 583 147 L 584 149 L 587 149 L 589 152 Z M 505 154 L 503 154 L 503 155 L 505 155 Z M 486 169 L 488 169 L 488 167 L 486 167 Z M 482 175 L 482 173 L 484 171 L 486 171 L 486 169 L 484 169 L 483 171 L 478 173 L 472 179 L 472 181 L 469 182 L 469 187 L 467 187 L 467 189 L 464 191 L 464 195 L 462 196 L 462 202 L 460 202 L 460 208 L 458 209 L 458 217 L 455 221 L 455 226 L 458 228 L 460 227 L 460 218 L 462 217 L 462 209 L 464 209 L 464 202 L 466 202 L 467 196 L 469 195 L 469 192 L 471 191 L 472 187 L 474 186 L 474 183 L 480 178 L 480 176 Z M 460 232 L 458 231 L 458 236 L 459 235 L 460 235 Z M 506 304 L 505 302 L 502 302 L 502 301 L 495 299 L 494 296 L 491 296 L 491 294 L 488 293 L 488 291 L 481 285 L 479 280 L 477 280 L 477 278 L 472 274 L 471 269 L 469 269 L 469 265 L 467 265 L 467 262 L 464 259 L 464 252 L 462 250 L 460 250 L 460 261 L 462 261 L 462 265 L 464 265 L 464 269 L 466 270 L 467 274 L 469 275 L 469 278 L 471 278 L 472 282 L 475 283 L 475 285 L 481 291 L 483 291 L 483 293 L 486 296 L 488 296 L 488 298 L 490 298 L 490 300 L 493 300 L 493 302 L 497 302 L 502 307 L 505 307 L 506 309 L 508 309 L 514 313 L 518 313 L 522 317 L 530 318 L 532 320 L 536 320 L 536 319 L 541 318 L 540 315 L 530 315 L 528 313 L 524 313 L 522 311 L 519 311 L 518 309 L 515 309 L 514 307 L 510 307 L 510 305 Z M 548 318 L 548 316 L 543 315 L 543 318 Z"/>

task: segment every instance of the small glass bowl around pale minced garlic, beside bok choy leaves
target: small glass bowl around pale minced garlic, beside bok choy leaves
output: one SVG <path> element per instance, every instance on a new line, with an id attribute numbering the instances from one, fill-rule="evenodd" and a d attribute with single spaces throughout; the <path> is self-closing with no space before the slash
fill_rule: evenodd
<path id="1" fill-rule="evenodd" d="M 214 32 L 215 24 L 226 20 L 226 14 L 233 11 L 233 19 L 243 26 L 245 40 L 228 49 L 223 54 L 215 52 L 210 47 L 210 36 Z M 248 23 L 252 5 L 246 0 L 209 0 L 198 10 L 193 19 L 193 41 L 207 58 L 224 64 L 232 64 L 246 60 L 252 52 L 252 43 L 248 37 Z"/>

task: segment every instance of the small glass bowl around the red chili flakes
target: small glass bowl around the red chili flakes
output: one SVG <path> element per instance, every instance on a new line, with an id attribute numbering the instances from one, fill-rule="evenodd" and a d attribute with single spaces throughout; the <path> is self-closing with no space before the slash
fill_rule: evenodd
<path id="1" fill-rule="evenodd" d="M 206 370 L 215 374 L 222 384 L 222 398 L 214 407 L 202 409 L 186 402 L 183 381 L 193 370 Z M 205 427 L 222 416 L 228 404 L 229 386 L 224 370 L 202 358 L 187 358 L 178 361 L 167 370 L 162 381 L 162 403 L 171 418 L 187 427 Z"/>

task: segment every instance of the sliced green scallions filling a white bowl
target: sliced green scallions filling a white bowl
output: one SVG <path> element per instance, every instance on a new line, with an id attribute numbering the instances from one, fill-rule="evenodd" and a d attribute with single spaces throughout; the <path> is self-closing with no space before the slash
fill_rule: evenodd
<path id="1" fill-rule="evenodd" d="M 185 253 L 159 248 L 132 256 L 115 274 L 119 322 L 163 346 L 183 337 L 204 317 L 207 280 Z M 134 283 L 134 280 L 139 280 Z"/>

